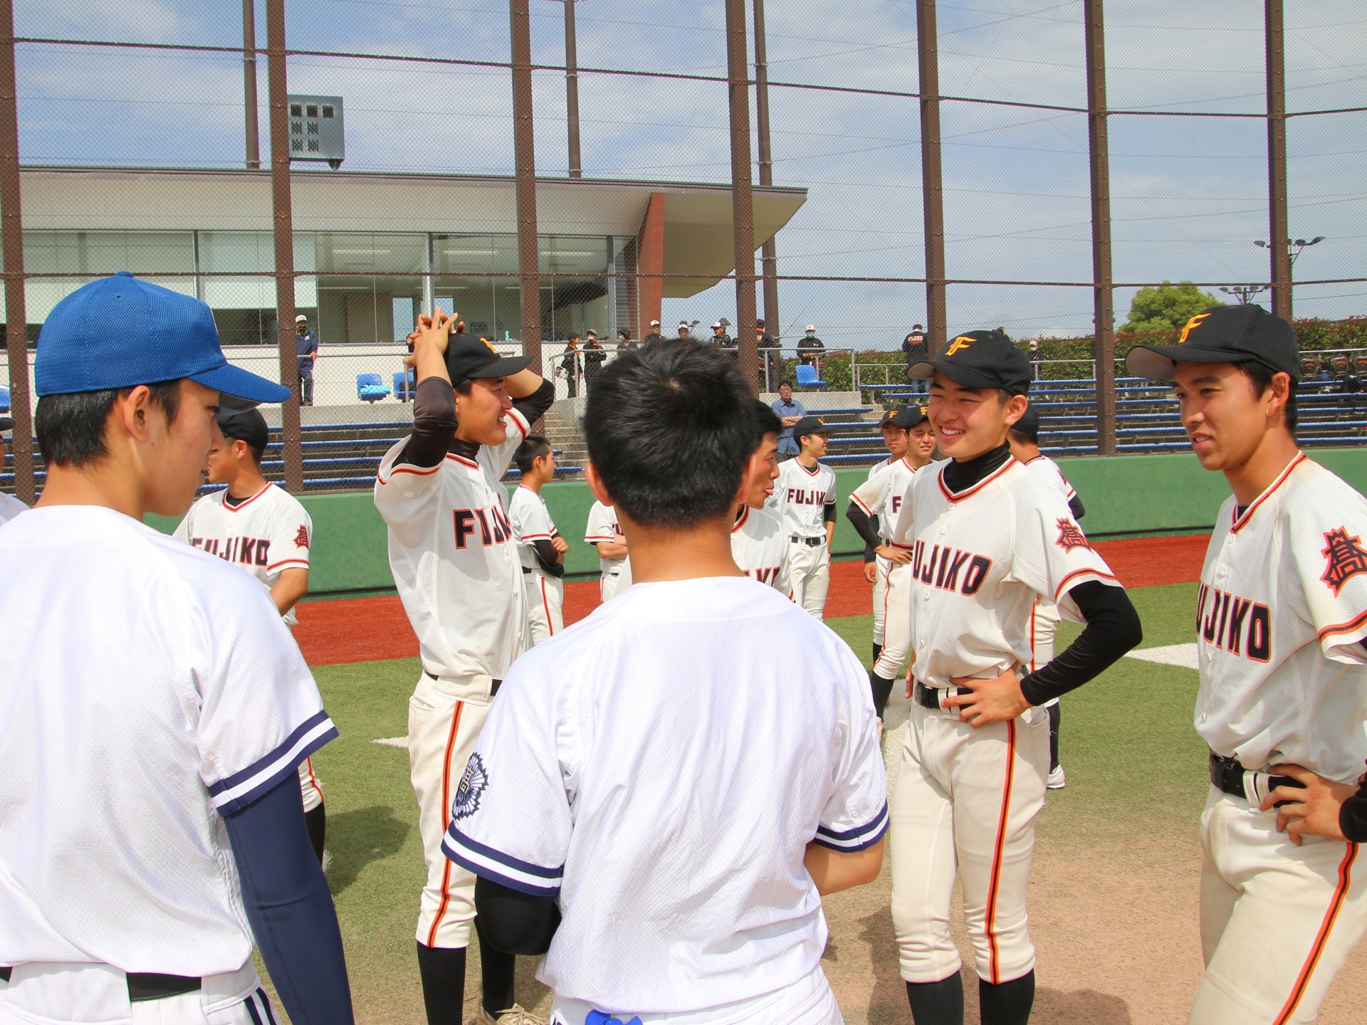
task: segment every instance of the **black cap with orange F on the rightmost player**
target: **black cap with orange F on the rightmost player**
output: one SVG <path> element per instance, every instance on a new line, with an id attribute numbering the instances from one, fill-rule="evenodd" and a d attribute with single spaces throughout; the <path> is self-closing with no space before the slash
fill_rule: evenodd
<path id="1" fill-rule="evenodd" d="M 1135 346 L 1125 366 L 1136 377 L 1170 381 L 1177 364 L 1258 362 L 1300 380 L 1300 351 L 1290 324 L 1256 303 L 1211 306 L 1182 327 L 1176 346 Z"/>

